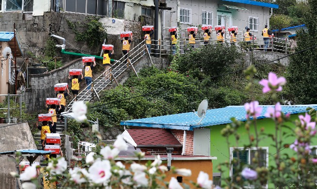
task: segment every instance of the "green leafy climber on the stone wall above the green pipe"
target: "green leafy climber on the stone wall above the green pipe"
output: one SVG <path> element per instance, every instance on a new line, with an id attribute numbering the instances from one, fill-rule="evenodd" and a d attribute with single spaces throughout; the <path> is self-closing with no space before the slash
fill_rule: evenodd
<path id="1" fill-rule="evenodd" d="M 72 23 L 67 20 L 67 24 L 75 32 L 76 41 L 85 41 L 89 47 L 98 47 L 107 38 L 107 32 L 98 21 L 99 17 L 87 16 L 85 20 L 87 23 Z"/>

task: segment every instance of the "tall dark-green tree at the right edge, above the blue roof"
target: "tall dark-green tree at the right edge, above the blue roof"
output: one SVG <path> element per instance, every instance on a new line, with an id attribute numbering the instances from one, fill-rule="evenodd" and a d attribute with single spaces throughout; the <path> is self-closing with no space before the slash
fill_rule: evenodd
<path id="1" fill-rule="evenodd" d="M 309 0 L 309 12 L 304 15 L 307 30 L 297 32 L 296 52 L 317 45 L 317 0 Z M 316 47 L 291 56 L 287 69 L 288 91 L 297 104 L 317 103 L 317 53 Z"/>

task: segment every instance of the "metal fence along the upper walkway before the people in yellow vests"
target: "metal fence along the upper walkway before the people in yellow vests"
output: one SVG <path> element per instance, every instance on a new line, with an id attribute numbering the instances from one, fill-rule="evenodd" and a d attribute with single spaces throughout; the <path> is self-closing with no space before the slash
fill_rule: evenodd
<path id="1" fill-rule="evenodd" d="M 164 30 L 166 31 L 166 30 Z M 165 32 L 164 32 L 165 33 Z M 189 40 L 188 37 L 185 37 L 187 35 L 187 31 L 185 30 L 181 30 L 179 31 L 180 33 L 180 41 L 179 41 L 179 47 L 180 47 L 180 53 L 184 54 L 186 52 L 186 50 L 189 50 L 190 45 L 189 45 Z M 205 40 L 203 40 L 203 31 L 199 30 L 197 35 L 196 35 L 196 40 L 195 40 L 195 45 L 193 46 L 194 48 L 200 48 L 206 44 L 204 44 Z M 210 39 L 208 40 L 208 44 L 211 45 L 216 45 L 216 44 L 231 44 L 231 45 L 235 45 L 237 47 L 240 47 L 243 50 L 267 50 L 267 51 L 272 51 L 272 52 L 280 52 L 280 53 L 289 53 L 291 52 L 293 49 L 291 48 L 291 41 L 288 40 L 288 38 L 278 38 L 275 36 L 270 36 L 270 37 L 257 37 L 255 35 L 253 35 L 252 40 L 250 40 L 250 42 L 246 42 L 245 41 L 245 37 L 244 37 L 244 31 L 240 31 L 237 32 L 237 36 L 234 38 L 236 39 L 236 42 L 231 42 L 231 37 L 230 37 L 230 33 L 228 31 L 224 32 L 223 35 L 223 39 L 219 40 L 217 39 L 217 33 L 211 32 L 210 35 Z M 267 39 L 267 44 L 265 44 L 264 39 Z M 201 40 L 202 39 L 202 40 Z M 170 36 L 165 36 L 163 37 L 163 40 L 157 40 L 158 45 L 154 45 L 154 42 L 156 42 L 156 40 L 151 40 L 153 41 L 151 46 L 155 48 L 155 46 L 157 47 L 157 51 L 153 50 L 150 52 L 150 54 L 152 55 L 157 55 L 157 56 L 162 56 L 162 55 L 170 55 L 172 54 L 173 50 L 172 50 L 172 45 L 171 45 L 171 41 L 170 41 Z M 266 46 L 267 45 L 267 46 Z"/>

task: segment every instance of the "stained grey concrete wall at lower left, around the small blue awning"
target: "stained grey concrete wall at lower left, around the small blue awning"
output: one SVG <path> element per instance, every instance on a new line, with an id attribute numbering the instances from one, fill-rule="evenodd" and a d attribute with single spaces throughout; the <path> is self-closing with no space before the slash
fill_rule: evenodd
<path id="1" fill-rule="evenodd" d="M 7 127 L 1 127 L 7 126 Z M 37 149 L 30 127 L 27 123 L 8 126 L 0 124 L 0 152 L 21 149 Z M 27 161 L 25 158 L 24 161 Z M 0 188 L 16 189 L 16 179 L 10 175 L 16 172 L 16 164 L 12 157 L 0 157 Z"/>

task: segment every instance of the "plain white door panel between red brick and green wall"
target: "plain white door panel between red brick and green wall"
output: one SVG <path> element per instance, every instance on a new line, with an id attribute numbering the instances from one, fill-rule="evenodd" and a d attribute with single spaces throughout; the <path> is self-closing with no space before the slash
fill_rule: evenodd
<path id="1" fill-rule="evenodd" d="M 194 129 L 194 155 L 210 156 L 210 129 Z"/>

